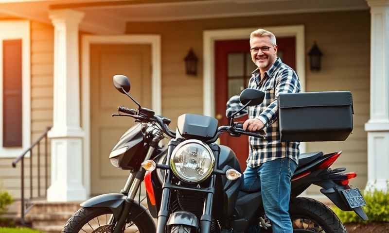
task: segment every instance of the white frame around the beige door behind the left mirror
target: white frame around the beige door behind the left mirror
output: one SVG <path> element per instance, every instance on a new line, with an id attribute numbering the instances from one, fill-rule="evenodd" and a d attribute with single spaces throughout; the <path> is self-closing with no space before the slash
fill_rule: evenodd
<path id="1" fill-rule="evenodd" d="M 90 45 L 91 44 L 149 44 L 151 45 L 151 107 L 157 115 L 162 112 L 161 95 L 161 37 L 158 34 L 83 35 L 81 50 L 82 128 L 85 131 L 83 148 L 84 185 L 90 196 Z M 112 87 L 113 88 L 113 87 Z M 118 103 L 119 105 L 120 103 Z M 108 155 L 107 155 L 108 156 Z"/>

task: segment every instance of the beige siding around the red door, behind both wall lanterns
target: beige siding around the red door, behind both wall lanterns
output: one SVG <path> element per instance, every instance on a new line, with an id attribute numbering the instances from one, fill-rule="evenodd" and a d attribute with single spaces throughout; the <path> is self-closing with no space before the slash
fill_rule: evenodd
<path id="1" fill-rule="evenodd" d="M 311 72 L 305 58 L 306 90 L 350 90 L 354 98 L 354 132 L 345 142 L 308 143 L 308 151 L 343 150 L 335 166 L 357 171 L 351 183 L 364 188 L 367 181 L 367 133 L 370 110 L 369 11 L 233 17 L 172 22 L 129 22 L 127 33 L 157 33 L 162 50 L 162 113 L 173 120 L 183 113 L 203 112 L 203 31 L 229 28 L 304 25 L 305 53 L 317 41 L 323 52 L 322 70 Z M 177 30 L 179 29 L 179 30 Z M 193 48 L 199 57 L 198 75 L 185 75 L 183 58 Z M 217 85 L 217 83 L 216 83 Z M 318 193 L 318 189 L 309 190 Z"/>

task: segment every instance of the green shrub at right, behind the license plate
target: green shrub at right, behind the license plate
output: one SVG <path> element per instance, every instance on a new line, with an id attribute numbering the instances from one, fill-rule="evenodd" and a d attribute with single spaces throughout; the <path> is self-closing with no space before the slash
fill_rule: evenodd
<path id="1" fill-rule="evenodd" d="M 368 223 L 368 222 L 389 222 L 389 192 L 375 190 L 365 192 L 363 197 L 366 205 L 363 208 L 368 221 L 363 221 L 354 211 L 342 211 L 336 206 L 332 209 L 343 223 Z"/>

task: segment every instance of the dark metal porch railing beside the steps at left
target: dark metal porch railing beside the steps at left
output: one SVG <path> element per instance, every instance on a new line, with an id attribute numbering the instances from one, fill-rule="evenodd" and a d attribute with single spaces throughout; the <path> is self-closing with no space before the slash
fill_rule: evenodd
<path id="1" fill-rule="evenodd" d="M 12 166 L 13 167 L 16 167 L 16 165 L 18 164 L 18 162 L 21 163 L 20 165 L 20 182 L 21 182 L 21 190 L 20 190 L 20 194 L 21 194 L 21 205 L 20 205 L 20 213 L 21 213 L 21 222 L 22 223 L 25 223 L 25 219 L 24 219 L 24 216 L 25 214 L 27 214 L 27 212 L 30 210 L 30 208 L 32 206 L 30 206 L 29 208 L 26 208 L 25 206 L 25 203 L 26 203 L 26 200 L 27 201 L 31 201 L 33 198 L 42 198 L 42 197 L 46 197 L 47 195 L 47 188 L 48 188 L 48 153 L 47 153 L 47 143 L 48 143 L 48 139 L 47 139 L 47 133 L 49 132 L 49 130 L 51 129 L 52 127 L 47 127 L 46 128 L 46 131 L 31 145 L 30 148 L 28 148 L 27 150 L 24 150 L 22 154 L 20 154 L 18 156 L 18 158 L 16 158 L 14 160 L 14 162 L 12 162 Z M 40 192 L 40 187 L 41 187 L 41 184 L 40 184 L 40 180 L 41 180 L 41 177 L 40 177 L 40 166 L 41 166 L 41 162 L 40 162 L 40 144 L 41 144 L 41 141 L 44 140 L 44 172 L 45 172 L 45 193 L 44 195 L 41 195 L 41 192 Z M 34 196 L 34 193 L 33 193 L 33 158 L 35 157 L 35 154 L 33 153 L 34 152 L 34 149 L 37 149 L 37 153 L 36 153 L 36 163 L 37 163 L 37 179 L 38 179 L 38 192 L 37 192 L 37 195 Z M 24 179 L 26 178 L 24 176 L 24 159 L 25 159 L 25 156 L 30 152 L 30 195 L 29 195 L 29 199 L 26 199 L 24 197 Z M 34 155 L 34 156 L 33 156 Z"/>

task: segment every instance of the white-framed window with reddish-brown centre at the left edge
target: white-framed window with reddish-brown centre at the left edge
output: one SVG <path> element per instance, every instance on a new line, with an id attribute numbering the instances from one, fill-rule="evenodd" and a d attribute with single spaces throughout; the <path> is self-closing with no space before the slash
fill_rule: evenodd
<path id="1" fill-rule="evenodd" d="M 30 22 L 0 21 L 0 157 L 30 146 Z"/>

